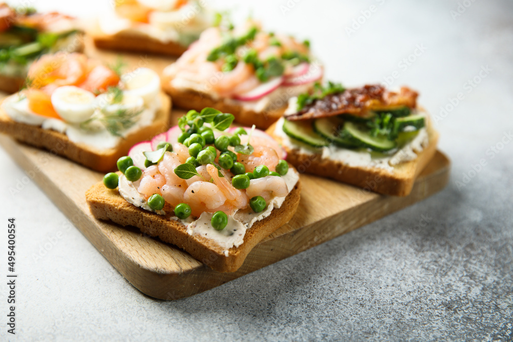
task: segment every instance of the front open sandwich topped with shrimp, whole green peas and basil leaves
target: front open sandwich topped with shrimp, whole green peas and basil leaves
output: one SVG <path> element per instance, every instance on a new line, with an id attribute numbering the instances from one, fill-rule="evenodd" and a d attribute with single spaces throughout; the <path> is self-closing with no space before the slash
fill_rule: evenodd
<path id="1" fill-rule="evenodd" d="M 294 215 L 301 186 L 277 142 L 254 126 L 229 129 L 232 120 L 213 108 L 191 110 L 179 126 L 135 145 L 118 160 L 120 172 L 87 191 L 92 214 L 157 236 L 216 271 L 237 270 Z"/>

